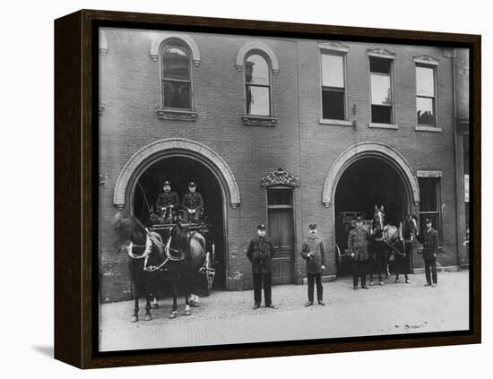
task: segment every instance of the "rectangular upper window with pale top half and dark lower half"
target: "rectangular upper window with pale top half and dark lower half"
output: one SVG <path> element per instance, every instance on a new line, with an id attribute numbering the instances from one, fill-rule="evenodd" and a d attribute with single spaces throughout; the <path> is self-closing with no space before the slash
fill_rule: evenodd
<path id="1" fill-rule="evenodd" d="M 346 119 L 344 56 L 322 54 L 322 118 Z"/>

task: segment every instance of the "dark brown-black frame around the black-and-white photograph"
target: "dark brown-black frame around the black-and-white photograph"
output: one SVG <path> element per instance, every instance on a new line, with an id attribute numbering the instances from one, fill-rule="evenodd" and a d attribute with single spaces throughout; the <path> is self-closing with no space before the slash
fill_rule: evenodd
<path id="1" fill-rule="evenodd" d="M 99 353 L 99 27 L 188 30 L 470 49 L 470 329 L 419 335 Z M 480 343 L 480 36 L 82 10 L 55 22 L 55 357 L 81 368 Z M 70 248 L 67 248 L 70 246 Z M 70 298 L 70 303 L 65 300 Z"/>

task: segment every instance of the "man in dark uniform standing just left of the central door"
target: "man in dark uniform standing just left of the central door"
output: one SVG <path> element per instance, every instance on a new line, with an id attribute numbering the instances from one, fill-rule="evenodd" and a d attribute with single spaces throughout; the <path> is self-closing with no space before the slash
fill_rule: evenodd
<path id="1" fill-rule="evenodd" d="M 254 309 L 262 302 L 262 281 L 264 281 L 265 306 L 274 308 L 272 305 L 272 256 L 274 246 L 271 238 L 265 237 L 265 225 L 260 224 L 256 230 L 256 237 L 248 244 L 247 258 L 252 263 L 254 276 Z"/>

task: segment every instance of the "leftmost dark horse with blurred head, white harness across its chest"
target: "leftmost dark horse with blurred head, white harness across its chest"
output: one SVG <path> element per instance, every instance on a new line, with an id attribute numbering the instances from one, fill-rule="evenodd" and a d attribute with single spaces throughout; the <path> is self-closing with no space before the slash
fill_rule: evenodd
<path id="1" fill-rule="evenodd" d="M 134 216 L 124 218 L 120 212 L 115 217 L 114 231 L 118 250 L 130 257 L 128 267 L 134 297 L 131 322 L 139 320 L 140 297 L 146 299 L 144 320 L 150 321 L 151 307 L 156 307 L 151 306 L 151 299 L 156 294 L 156 283 L 163 280 L 161 270 L 166 263 L 161 237 L 148 231 Z"/>

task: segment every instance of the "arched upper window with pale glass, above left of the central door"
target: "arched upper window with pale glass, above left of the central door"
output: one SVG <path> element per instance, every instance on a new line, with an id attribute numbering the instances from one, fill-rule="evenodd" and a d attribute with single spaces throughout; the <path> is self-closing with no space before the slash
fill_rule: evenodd
<path id="1" fill-rule="evenodd" d="M 247 115 L 271 116 L 271 67 L 259 53 L 245 58 L 245 86 Z"/>

